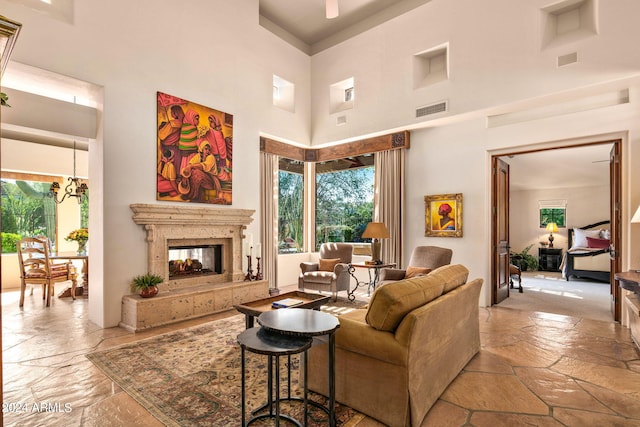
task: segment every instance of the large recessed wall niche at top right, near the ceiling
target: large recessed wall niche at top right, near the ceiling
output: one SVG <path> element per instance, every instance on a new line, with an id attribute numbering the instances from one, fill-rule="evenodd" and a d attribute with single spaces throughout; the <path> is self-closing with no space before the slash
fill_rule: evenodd
<path id="1" fill-rule="evenodd" d="M 542 46 L 554 47 L 598 34 L 597 0 L 565 0 L 542 8 Z"/>

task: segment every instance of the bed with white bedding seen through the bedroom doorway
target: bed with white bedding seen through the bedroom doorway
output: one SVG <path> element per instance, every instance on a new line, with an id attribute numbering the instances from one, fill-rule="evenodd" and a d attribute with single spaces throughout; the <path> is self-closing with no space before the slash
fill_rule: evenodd
<path id="1" fill-rule="evenodd" d="M 565 253 L 562 277 L 610 281 L 610 232 L 607 221 L 569 229 L 569 250 Z"/>

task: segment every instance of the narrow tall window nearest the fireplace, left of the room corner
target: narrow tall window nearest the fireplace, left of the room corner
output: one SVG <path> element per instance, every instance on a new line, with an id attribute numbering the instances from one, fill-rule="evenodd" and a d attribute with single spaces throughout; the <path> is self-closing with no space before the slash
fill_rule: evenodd
<path id="1" fill-rule="evenodd" d="M 280 158 L 278 172 L 278 253 L 301 252 L 304 230 L 304 163 Z"/>

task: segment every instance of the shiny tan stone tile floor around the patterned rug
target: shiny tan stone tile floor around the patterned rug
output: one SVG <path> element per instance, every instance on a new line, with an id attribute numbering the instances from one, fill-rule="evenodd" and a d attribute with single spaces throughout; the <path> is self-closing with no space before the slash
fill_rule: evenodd
<path id="1" fill-rule="evenodd" d="M 88 320 L 87 299 L 2 294 L 5 426 L 161 426 L 86 353 L 236 314 L 132 334 Z M 482 349 L 423 426 L 640 426 L 640 353 L 613 322 L 480 309 Z M 40 405 L 40 406 L 39 406 Z M 358 427 L 380 426 L 372 419 Z M 395 427 L 395 426 L 393 426 Z"/>

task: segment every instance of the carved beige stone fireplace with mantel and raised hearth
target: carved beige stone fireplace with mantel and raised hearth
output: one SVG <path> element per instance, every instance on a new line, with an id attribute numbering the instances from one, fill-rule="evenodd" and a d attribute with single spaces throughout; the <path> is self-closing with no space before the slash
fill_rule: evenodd
<path id="1" fill-rule="evenodd" d="M 269 294 L 266 280 L 244 281 L 242 239 L 253 210 L 133 204 L 144 227 L 147 271 L 164 278 L 154 298 L 125 295 L 120 326 L 137 331 L 232 309 Z"/>

